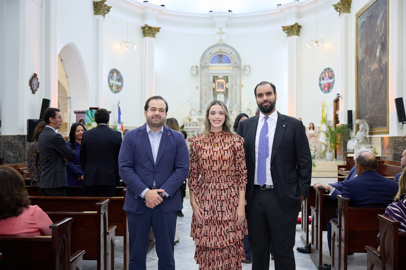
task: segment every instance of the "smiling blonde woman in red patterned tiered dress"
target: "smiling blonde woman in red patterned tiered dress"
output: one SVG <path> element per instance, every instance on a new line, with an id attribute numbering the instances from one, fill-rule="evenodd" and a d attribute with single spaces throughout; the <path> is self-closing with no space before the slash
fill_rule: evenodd
<path id="1" fill-rule="evenodd" d="M 244 139 L 231 133 L 229 120 L 225 104 L 212 101 L 206 110 L 204 132 L 190 141 L 190 235 L 199 269 L 241 269 L 245 259 Z"/>

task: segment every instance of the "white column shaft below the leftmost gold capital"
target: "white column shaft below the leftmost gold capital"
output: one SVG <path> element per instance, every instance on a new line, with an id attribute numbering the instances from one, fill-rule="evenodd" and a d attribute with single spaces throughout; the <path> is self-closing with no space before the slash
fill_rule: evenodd
<path id="1" fill-rule="evenodd" d="M 93 98 L 91 107 L 103 107 L 103 53 L 104 53 L 105 17 L 94 15 L 94 72 L 93 72 Z"/>

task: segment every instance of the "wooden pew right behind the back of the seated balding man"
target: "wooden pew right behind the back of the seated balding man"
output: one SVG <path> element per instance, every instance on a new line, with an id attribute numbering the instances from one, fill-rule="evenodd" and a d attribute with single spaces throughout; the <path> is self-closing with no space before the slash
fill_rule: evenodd
<path id="1" fill-rule="evenodd" d="M 364 253 L 365 245 L 375 245 L 379 233 L 378 214 L 385 208 L 349 207 L 350 199 L 337 196 L 338 222 L 331 221 L 331 269 L 347 269 L 349 252 Z"/>

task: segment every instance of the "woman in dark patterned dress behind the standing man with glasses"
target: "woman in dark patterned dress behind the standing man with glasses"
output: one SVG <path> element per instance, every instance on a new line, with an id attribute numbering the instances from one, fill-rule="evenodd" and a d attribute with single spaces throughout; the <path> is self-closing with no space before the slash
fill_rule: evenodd
<path id="1" fill-rule="evenodd" d="M 40 159 L 40 151 L 38 150 L 38 137 L 40 136 L 46 125 L 47 124 L 45 124 L 44 121 L 38 123 L 37 127 L 35 127 L 34 135 L 32 136 L 33 142 L 28 147 L 27 164 L 30 185 L 40 185 L 42 165 Z"/>

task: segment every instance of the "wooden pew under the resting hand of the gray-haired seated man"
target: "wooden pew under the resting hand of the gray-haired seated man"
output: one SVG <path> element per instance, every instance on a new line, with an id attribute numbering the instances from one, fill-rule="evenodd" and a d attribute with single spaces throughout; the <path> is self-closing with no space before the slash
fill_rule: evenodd
<path id="1" fill-rule="evenodd" d="M 314 188 L 313 188 L 314 190 Z M 331 200 L 325 189 L 320 187 L 316 192 L 315 206 L 311 207 L 312 214 L 312 245 L 310 258 L 318 269 L 323 268 L 323 230 L 327 230 L 327 222 L 335 217 L 337 202 Z"/>

